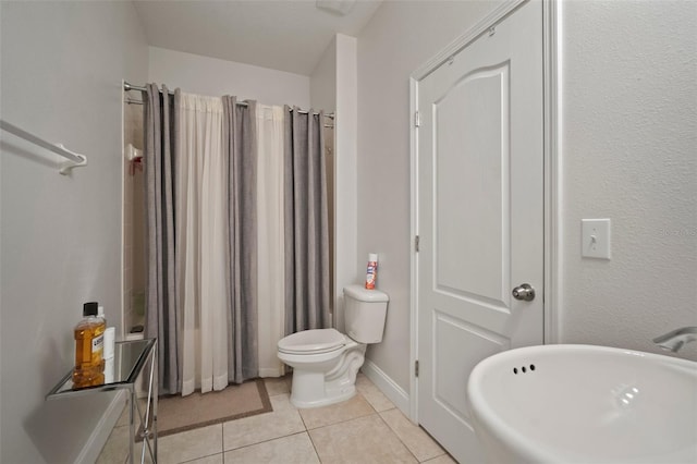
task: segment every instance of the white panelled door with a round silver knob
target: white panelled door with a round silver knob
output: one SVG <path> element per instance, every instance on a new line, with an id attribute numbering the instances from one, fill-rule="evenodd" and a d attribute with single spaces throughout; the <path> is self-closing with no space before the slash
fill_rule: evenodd
<path id="1" fill-rule="evenodd" d="M 473 367 L 542 344 L 542 51 L 525 3 L 418 84 L 418 420 L 463 463 Z"/>

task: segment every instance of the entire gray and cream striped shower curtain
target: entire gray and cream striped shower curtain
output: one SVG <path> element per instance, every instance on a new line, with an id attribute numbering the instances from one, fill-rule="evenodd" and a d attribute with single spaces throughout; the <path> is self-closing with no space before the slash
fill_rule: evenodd
<path id="1" fill-rule="evenodd" d="M 321 114 L 147 86 L 147 335 L 163 393 L 283 374 L 329 327 Z"/>

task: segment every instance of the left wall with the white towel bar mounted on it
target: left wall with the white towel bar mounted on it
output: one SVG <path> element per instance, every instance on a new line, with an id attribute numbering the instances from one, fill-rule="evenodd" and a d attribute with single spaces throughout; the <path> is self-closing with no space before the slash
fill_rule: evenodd
<path id="1" fill-rule="evenodd" d="M 2 119 L 88 158 L 63 176 L 2 133 L 0 461 L 73 462 L 110 398 L 44 396 L 73 366 L 84 302 L 120 322 L 121 80 L 147 77 L 147 48 L 130 2 L 0 9 Z"/>

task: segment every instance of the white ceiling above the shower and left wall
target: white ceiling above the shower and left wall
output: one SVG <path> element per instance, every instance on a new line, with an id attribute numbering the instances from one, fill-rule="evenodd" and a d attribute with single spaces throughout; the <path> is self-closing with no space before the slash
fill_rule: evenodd
<path id="1" fill-rule="evenodd" d="M 380 3 L 359 0 L 340 15 L 315 0 L 134 1 L 150 46 L 302 75 L 335 34 L 356 36 Z"/>

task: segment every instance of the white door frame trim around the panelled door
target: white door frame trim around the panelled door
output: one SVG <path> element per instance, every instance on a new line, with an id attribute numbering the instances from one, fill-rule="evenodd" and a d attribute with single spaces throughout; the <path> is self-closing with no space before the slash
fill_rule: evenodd
<path id="1" fill-rule="evenodd" d="M 437 68 L 448 62 L 463 48 L 475 41 L 506 16 L 528 1 L 542 1 L 542 66 L 543 66 L 543 207 L 545 207 L 545 327 L 543 343 L 558 343 L 560 337 L 561 302 L 561 180 L 562 166 L 559 158 L 559 132 L 561 115 L 561 61 L 560 30 L 558 20 L 559 0 L 509 0 L 501 3 L 472 28 L 457 37 L 443 50 L 419 66 L 409 76 L 409 139 L 411 139 L 411 350 L 409 350 L 409 418 L 418 424 L 418 85 Z"/>

